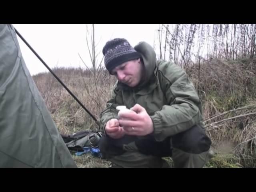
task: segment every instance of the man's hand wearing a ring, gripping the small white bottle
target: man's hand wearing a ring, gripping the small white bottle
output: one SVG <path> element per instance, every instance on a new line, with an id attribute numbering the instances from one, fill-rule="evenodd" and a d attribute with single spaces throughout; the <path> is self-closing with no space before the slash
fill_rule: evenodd
<path id="1" fill-rule="evenodd" d="M 154 131 L 153 122 L 145 108 L 139 104 L 131 108 L 136 113 L 120 114 L 119 124 L 124 128 L 125 134 L 145 136 Z"/>

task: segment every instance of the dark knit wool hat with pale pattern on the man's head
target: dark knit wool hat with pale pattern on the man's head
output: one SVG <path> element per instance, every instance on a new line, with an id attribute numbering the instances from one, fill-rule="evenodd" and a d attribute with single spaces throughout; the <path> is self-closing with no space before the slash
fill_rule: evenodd
<path id="1" fill-rule="evenodd" d="M 109 72 L 124 62 L 140 58 L 140 54 L 123 38 L 115 38 L 106 42 L 102 52 Z"/>

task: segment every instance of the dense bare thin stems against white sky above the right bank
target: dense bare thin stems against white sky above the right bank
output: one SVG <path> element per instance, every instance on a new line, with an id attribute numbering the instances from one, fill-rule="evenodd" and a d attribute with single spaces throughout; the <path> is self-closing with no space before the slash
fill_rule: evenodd
<path id="1" fill-rule="evenodd" d="M 194 59 L 198 62 L 200 56 L 205 58 L 202 54 L 206 59 L 252 58 L 256 51 L 256 24 L 162 24 L 158 40 L 160 58 L 166 58 L 169 48 L 169 60 L 185 67 Z"/>

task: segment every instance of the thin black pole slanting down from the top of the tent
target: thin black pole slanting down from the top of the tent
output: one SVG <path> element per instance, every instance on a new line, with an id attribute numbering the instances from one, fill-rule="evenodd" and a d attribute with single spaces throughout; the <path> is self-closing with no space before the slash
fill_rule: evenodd
<path id="1" fill-rule="evenodd" d="M 56 76 L 56 74 L 54 74 L 54 72 L 48 67 L 48 65 L 44 62 L 44 60 L 42 60 L 42 58 L 36 53 L 36 51 L 30 46 L 30 44 L 28 44 L 28 42 L 22 37 L 22 35 L 15 29 L 16 34 L 18 34 L 18 36 L 22 39 L 22 41 L 30 48 L 30 50 L 37 56 L 37 58 L 44 64 L 44 66 L 46 66 L 46 68 L 52 73 L 52 75 L 58 80 L 58 82 L 60 82 L 60 84 L 62 84 L 62 86 L 69 92 L 69 94 L 80 104 L 80 106 L 82 106 L 82 108 L 84 108 L 84 110 L 86 110 L 86 112 L 95 120 L 96 124 L 99 125 L 98 120 L 86 109 L 86 107 L 78 100 L 78 98 L 76 98 L 76 96 L 66 87 L 66 85 L 58 78 L 58 76 Z"/>

